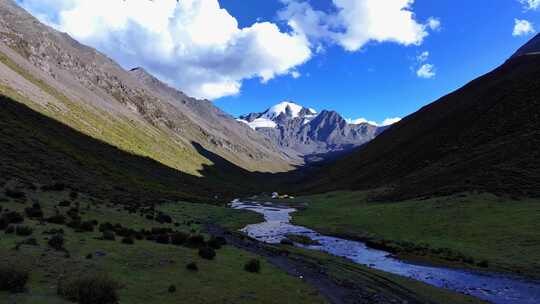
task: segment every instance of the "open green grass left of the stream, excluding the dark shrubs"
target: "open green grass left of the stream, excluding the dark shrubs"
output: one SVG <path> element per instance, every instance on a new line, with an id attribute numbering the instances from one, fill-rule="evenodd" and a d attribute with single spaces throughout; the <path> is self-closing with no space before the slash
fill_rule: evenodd
<path id="1" fill-rule="evenodd" d="M 24 190 L 26 203 L 5 198 L 7 187 L 15 187 L 9 181 L 0 185 L 0 205 L 6 209 L 22 211 L 32 200 L 39 200 L 45 216 L 54 212 L 59 201 L 69 198 L 67 191 L 43 192 Z M 81 206 L 83 220 L 96 219 L 100 223 L 119 223 L 128 228 L 174 227 L 173 224 L 158 224 L 138 214 L 120 210 L 120 206 L 101 202 L 91 204 L 92 198 L 80 195 L 76 202 Z M 86 205 L 90 204 L 89 210 Z M 63 209 L 64 208 L 64 209 Z M 67 207 L 61 207 L 64 213 Z M 227 208 L 179 202 L 159 207 L 172 216 L 173 222 L 180 223 L 177 230 L 185 232 L 201 230 L 206 221 L 219 221 L 225 227 L 237 229 L 248 223 L 260 221 L 260 217 L 249 212 Z M 84 214 L 83 214 L 84 213 Z M 62 275 L 104 272 L 118 281 L 121 303 L 325 303 L 316 290 L 300 279 L 291 277 L 281 270 L 261 260 L 260 274 L 244 270 L 244 264 L 256 256 L 224 246 L 217 250 L 214 260 L 201 259 L 196 249 L 182 246 L 160 245 L 150 241 L 136 240 L 134 245 L 124 245 L 116 241 L 97 239 L 95 232 L 76 233 L 70 228 L 54 224 L 39 224 L 25 219 L 24 225 L 34 229 L 39 246 L 23 245 L 12 249 L 23 237 L 4 235 L 0 237 L 0 263 L 17 263 L 30 272 L 28 290 L 22 294 L 0 292 L 0 303 L 65 303 L 56 295 L 57 280 Z M 63 228 L 66 249 L 63 252 L 48 248 L 43 231 Z M 96 252 L 105 253 L 97 256 Z M 85 257 L 93 253 L 92 259 Z M 186 269 L 190 262 L 196 262 L 199 271 Z M 169 293 L 168 287 L 175 285 L 177 291 Z"/>

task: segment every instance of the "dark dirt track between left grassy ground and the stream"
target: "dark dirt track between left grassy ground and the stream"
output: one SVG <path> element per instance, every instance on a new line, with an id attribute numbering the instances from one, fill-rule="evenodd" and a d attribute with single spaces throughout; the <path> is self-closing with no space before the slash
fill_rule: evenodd
<path id="1" fill-rule="evenodd" d="M 315 287 L 330 303 L 425 303 L 424 301 L 419 301 L 410 290 L 395 285 L 386 278 L 377 277 L 371 273 L 366 274 L 370 276 L 371 280 L 373 280 L 373 277 L 377 277 L 380 284 L 378 287 L 387 288 L 388 293 L 373 292 L 373 289 L 370 289 L 369 286 L 361 286 L 351 282 L 339 283 L 327 275 L 322 267 L 303 261 L 300 258 L 291 257 L 285 252 L 272 250 L 271 247 L 259 241 L 241 238 L 213 224 L 206 225 L 206 230 L 213 236 L 224 237 L 229 245 L 262 256 L 269 263 L 282 269 L 289 275 L 301 278 L 306 283 Z"/>

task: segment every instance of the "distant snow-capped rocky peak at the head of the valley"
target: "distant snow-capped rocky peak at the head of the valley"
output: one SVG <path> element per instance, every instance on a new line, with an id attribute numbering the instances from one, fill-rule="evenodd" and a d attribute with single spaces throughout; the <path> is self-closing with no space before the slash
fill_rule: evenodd
<path id="1" fill-rule="evenodd" d="M 242 115 L 238 121 L 266 135 L 283 152 L 311 161 L 365 144 L 385 129 L 367 122 L 350 124 L 335 111 L 317 113 L 290 101 Z"/>

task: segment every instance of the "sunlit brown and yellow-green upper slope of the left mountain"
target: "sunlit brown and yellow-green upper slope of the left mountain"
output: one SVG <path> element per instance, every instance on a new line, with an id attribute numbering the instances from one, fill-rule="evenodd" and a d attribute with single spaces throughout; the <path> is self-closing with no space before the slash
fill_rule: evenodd
<path id="1" fill-rule="evenodd" d="M 11 0 L 0 1 L 0 58 L 4 94 L 84 134 L 182 172 L 200 176 L 212 165 L 198 145 L 249 171 L 285 171 L 294 163 L 210 102 L 123 70 L 39 23 Z M 227 178 L 227 172 L 216 172 Z"/>

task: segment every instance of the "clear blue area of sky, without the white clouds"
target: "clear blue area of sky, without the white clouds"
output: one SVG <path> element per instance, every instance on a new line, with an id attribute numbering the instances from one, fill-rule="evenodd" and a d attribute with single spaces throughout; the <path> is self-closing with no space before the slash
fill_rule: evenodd
<path id="1" fill-rule="evenodd" d="M 241 22 L 250 23 L 258 17 L 275 18 L 279 3 L 268 2 L 264 9 L 250 9 L 236 0 L 222 4 Z M 417 0 L 413 8 L 418 19 L 436 16 L 442 25 L 420 46 L 370 43 L 353 53 L 331 46 L 298 69 L 303 77 L 280 77 L 267 84 L 248 80 L 241 94 L 216 104 L 237 115 L 290 99 L 348 118 L 404 117 L 497 67 L 526 43 L 533 35 L 514 37 L 515 18 L 540 25 L 540 12 L 526 11 L 514 0 Z M 432 79 L 418 78 L 416 69 L 410 69 L 424 51 L 436 67 Z"/>

